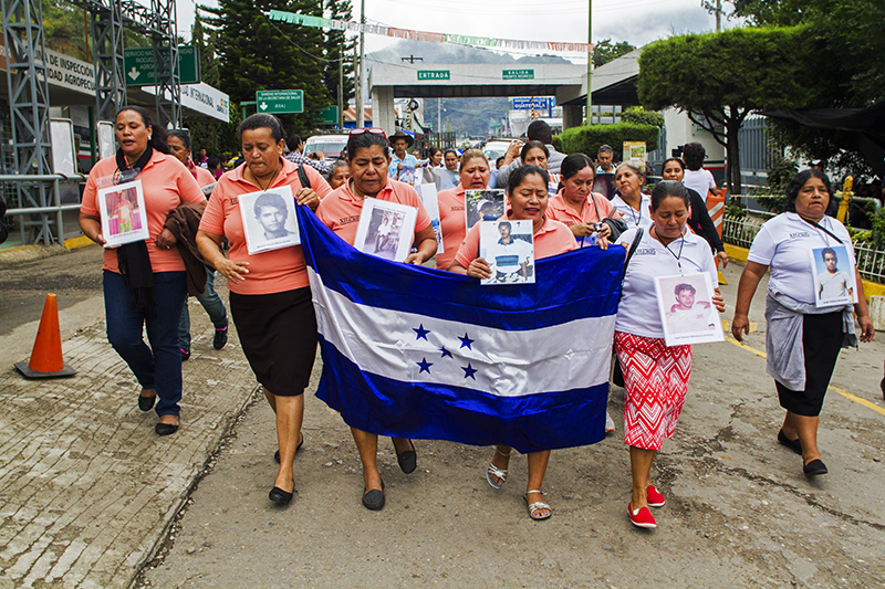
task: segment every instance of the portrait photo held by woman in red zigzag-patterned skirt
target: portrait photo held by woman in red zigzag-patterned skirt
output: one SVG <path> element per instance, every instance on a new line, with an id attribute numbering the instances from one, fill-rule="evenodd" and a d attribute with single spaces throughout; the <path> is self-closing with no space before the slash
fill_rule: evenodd
<path id="1" fill-rule="evenodd" d="M 709 274 L 656 277 L 655 293 L 667 346 L 725 340 Z"/>

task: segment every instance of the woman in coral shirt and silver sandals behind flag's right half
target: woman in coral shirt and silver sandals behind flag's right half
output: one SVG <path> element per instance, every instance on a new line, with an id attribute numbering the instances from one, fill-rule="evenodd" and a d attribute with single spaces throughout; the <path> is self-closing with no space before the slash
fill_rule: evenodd
<path id="1" fill-rule="evenodd" d="M 550 257 L 570 252 L 577 248 L 574 235 L 568 227 L 545 217 L 548 209 L 548 185 L 550 176 L 546 170 L 538 166 L 520 166 L 514 169 L 507 180 L 507 193 L 510 199 L 510 210 L 507 219 L 511 221 L 532 221 L 534 235 L 534 257 Z M 464 243 L 455 256 L 455 262 L 449 269 L 458 274 L 467 274 L 476 278 L 491 277 L 489 263 L 479 257 L 479 228 L 473 225 L 467 233 Z M 499 490 L 507 480 L 507 467 L 510 464 L 511 448 L 508 445 L 494 446 L 494 454 L 486 469 L 486 481 L 492 488 Z M 551 515 L 550 505 L 544 503 L 543 483 L 546 464 L 550 461 L 550 450 L 531 452 L 528 456 L 529 481 L 524 494 L 529 505 L 529 516 L 532 519 L 546 519 Z"/>

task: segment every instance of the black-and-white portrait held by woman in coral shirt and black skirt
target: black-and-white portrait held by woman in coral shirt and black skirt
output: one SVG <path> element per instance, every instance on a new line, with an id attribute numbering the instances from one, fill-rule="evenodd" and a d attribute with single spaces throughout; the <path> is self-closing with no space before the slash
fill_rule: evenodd
<path id="1" fill-rule="evenodd" d="M 239 203 L 249 255 L 301 244 L 291 186 L 240 194 Z"/>

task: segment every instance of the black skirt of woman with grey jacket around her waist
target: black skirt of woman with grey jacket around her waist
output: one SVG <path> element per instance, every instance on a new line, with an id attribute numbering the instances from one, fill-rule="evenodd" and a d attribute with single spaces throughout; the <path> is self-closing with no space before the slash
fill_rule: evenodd
<path id="1" fill-rule="evenodd" d="M 802 318 L 805 356 L 805 390 L 790 390 L 777 380 L 781 407 L 796 416 L 818 417 L 842 349 L 842 312 L 805 315 Z"/>

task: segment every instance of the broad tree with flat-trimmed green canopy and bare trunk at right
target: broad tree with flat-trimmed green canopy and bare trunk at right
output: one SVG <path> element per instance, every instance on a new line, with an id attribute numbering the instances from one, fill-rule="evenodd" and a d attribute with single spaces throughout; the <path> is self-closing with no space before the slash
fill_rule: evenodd
<path id="1" fill-rule="evenodd" d="M 809 80 L 826 65 L 808 34 L 806 27 L 731 29 L 657 41 L 639 56 L 639 99 L 652 111 L 678 108 L 710 132 L 726 147 L 729 191 L 739 193 L 738 130 L 747 115 L 804 108 L 825 92 Z"/>

